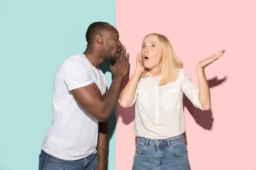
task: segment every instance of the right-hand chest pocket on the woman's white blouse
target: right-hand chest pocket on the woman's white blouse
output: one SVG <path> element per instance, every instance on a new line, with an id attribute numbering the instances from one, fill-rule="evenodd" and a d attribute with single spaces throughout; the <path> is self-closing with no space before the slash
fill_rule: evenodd
<path id="1" fill-rule="evenodd" d="M 164 110 L 169 111 L 180 108 L 180 89 L 169 89 L 163 91 Z"/>

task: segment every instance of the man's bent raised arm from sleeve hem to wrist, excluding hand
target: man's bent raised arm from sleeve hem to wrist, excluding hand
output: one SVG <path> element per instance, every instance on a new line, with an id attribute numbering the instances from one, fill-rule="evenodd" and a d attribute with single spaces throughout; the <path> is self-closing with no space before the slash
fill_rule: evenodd
<path id="1" fill-rule="evenodd" d="M 103 96 L 94 82 L 74 89 L 72 93 L 85 111 L 98 119 L 99 122 L 106 122 L 118 100 L 122 79 L 122 76 L 114 76 L 110 88 Z"/>

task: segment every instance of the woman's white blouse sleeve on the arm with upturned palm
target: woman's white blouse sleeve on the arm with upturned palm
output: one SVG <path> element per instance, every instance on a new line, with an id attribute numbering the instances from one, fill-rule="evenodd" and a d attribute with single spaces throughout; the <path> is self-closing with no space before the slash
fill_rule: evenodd
<path id="1" fill-rule="evenodd" d="M 195 86 L 191 77 L 189 77 L 185 71 L 183 71 L 183 82 L 181 85 L 181 90 L 196 108 L 200 108 L 202 111 L 204 111 L 198 99 L 199 89 Z"/>

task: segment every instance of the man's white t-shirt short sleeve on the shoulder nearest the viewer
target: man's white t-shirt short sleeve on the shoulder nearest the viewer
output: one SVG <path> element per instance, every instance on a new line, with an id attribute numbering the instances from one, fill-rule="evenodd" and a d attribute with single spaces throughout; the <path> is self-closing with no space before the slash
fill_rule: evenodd
<path id="1" fill-rule="evenodd" d="M 68 91 L 81 88 L 93 83 L 90 66 L 78 58 L 67 59 L 61 65 L 61 76 Z"/>

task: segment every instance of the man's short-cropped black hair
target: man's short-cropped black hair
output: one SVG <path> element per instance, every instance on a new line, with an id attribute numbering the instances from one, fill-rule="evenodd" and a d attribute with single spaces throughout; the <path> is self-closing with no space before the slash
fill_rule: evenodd
<path id="1" fill-rule="evenodd" d="M 90 26 L 88 27 L 86 34 L 85 34 L 87 43 L 92 42 L 93 37 L 95 35 L 100 34 L 100 32 L 105 30 L 105 28 L 106 28 L 105 24 L 109 24 L 109 23 L 95 22 L 95 23 L 90 24 Z"/>

